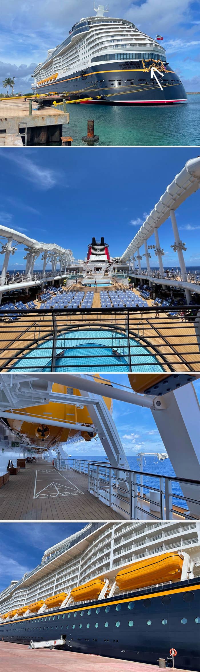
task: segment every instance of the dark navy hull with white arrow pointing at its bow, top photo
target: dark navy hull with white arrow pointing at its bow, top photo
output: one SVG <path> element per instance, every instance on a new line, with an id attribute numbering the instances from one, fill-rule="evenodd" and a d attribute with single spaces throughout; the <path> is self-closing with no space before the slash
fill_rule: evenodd
<path id="1" fill-rule="evenodd" d="M 161 63 L 161 61 L 160 61 Z M 151 77 L 151 67 L 158 69 Z M 160 71 L 160 73 L 159 73 Z M 32 87 L 34 94 L 67 93 L 70 99 L 89 98 L 104 105 L 172 105 L 187 102 L 187 94 L 170 66 L 152 60 L 108 62 L 60 77 L 54 84 Z"/>

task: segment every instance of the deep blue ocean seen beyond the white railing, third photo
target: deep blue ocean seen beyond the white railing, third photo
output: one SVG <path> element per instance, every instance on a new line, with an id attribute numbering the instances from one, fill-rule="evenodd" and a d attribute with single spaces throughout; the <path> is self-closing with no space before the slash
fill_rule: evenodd
<path id="1" fill-rule="evenodd" d="M 106 455 L 98 455 L 98 456 L 91 456 L 91 455 L 73 455 L 72 458 L 76 460 L 91 460 L 91 462 L 108 462 L 106 459 Z M 138 462 L 138 458 L 136 456 L 132 455 L 127 455 L 128 462 L 130 464 L 130 469 L 140 471 L 140 464 Z M 146 460 L 146 464 L 145 464 Z M 152 455 L 147 455 L 145 456 L 145 460 L 143 458 L 143 472 L 144 473 L 150 473 L 150 474 L 155 474 L 155 476 L 169 476 L 173 477 L 176 476 L 174 469 L 172 467 L 172 464 L 170 462 L 169 458 L 166 458 L 165 460 L 160 461 L 158 460 L 157 457 L 154 457 Z M 140 476 L 138 476 L 138 484 L 140 483 Z M 152 478 L 152 476 L 144 476 L 143 479 L 143 484 L 146 485 L 148 488 L 150 487 L 155 487 L 158 488 L 158 479 L 157 478 Z M 146 489 L 144 492 L 147 492 Z M 178 482 L 172 482 L 172 493 L 174 495 L 173 499 L 173 504 L 174 505 L 181 505 L 188 509 L 187 502 L 185 500 L 180 500 L 179 498 L 176 498 L 176 495 L 183 495 L 181 491 L 181 487 Z"/>

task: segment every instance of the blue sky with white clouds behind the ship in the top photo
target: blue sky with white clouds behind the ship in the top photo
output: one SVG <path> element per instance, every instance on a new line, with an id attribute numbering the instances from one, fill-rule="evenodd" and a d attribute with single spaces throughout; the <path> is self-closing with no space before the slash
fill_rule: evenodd
<path id="1" fill-rule="evenodd" d="M 105 3 L 106 5 L 106 3 Z M 1 87 L 15 77 L 15 93 L 28 93 L 38 62 L 46 59 L 93 0 L 1 0 Z M 109 16 L 128 19 L 142 32 L 163 36 L 167 60 L 186 91 L 199 91 L 199 0 L 110 0 Z"/>

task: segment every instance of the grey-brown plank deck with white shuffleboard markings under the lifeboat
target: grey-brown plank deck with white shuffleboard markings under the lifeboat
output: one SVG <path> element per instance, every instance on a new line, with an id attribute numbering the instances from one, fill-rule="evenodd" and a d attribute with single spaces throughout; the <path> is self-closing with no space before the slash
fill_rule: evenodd
<path id="1" fill-rule="evenodd" d="M 36 460 L 0 490 L 1 520 L 123 520 L 87 490 L 87 476 Z"/>

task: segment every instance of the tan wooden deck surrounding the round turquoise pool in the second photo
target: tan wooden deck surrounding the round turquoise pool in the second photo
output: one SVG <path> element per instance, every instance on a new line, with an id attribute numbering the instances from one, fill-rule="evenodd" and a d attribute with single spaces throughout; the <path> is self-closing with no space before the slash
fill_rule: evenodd
<path id="1" fill-rule="evenodd" d="M 122 286 L 119 282 L 113 285 L 113 289 L 119 289 Z M 83 286 L 77 284 L 76 289 L 82 289 Z M 89 291 L 89 288 L 85 288 Z M 100 308 L 100 289 L 94 292 L 93 308 Z M 136 294 L 139 293 L 134 290 Z M 152 301 L 147 300 L 148 306 L 152 306 Z M 40 303 L 36 303 L 38 307 Z M 111 329 L 126 328 L 126 309 L 123 314 L 109 314 L 100 316 L 98 313 L 81 314 L 76 311 L 72 314 L 57 315 L 56 322 L 58 325 L 58 332 L 64 333 L 66 329 L 74 327 L 74 329 L 87 328 L 89 326 L 96 327 L 110 327 Z M 101 319 L 101 322 L 100 322 Z M 19 329 L 20 327 L 20 329 Z M 9 370 L 9 359 L 12 357 L 12 364 L 15 364 L 17 358 L 17 351 L 21 351 L 20 356 L 26 355 L 28 350 L 36 345 L 36 339 L 40 335 L 40 343 L 44 342 L 48 336 L 52 335 L 52 318 L 41 315 L 40 313 L 30 314 L 28 317 L 24 316 L 18 322 L 9 324 L 8 322 L 1 323 L 1 347 L 0 347 L 0 370 Z M 133 332 L 131 334 L 131 331 Z M 197 366 L 200 367 L 200 353 L 197 343 L 197 335 L 193 323 L 186 323 L 179 319 L 173 320 L 164 312 L 160 313 L 159 319 L 156 318 L 155 312 L 148 314 L 148 319 L 145 313 L 140 311 L 140 314 L 130 311 L 130 335 L 138 337 L 140 335 L 140 345 L 147 347 L 145 339 L 148 341 L 148 349 L 150 353 L 156 355 L 158 364 L 162 364 L 166 372 L 174 370 L 177 372 L 185 372 L 188 370 L 197 371 Z M 143 340 L 144 339 L 144 340 Z M 156 352 L 157 349 L 157 352 Z M 162 355 L 168 360 L 168 364 L 172 365 L 172 369 L 168 364 L 164 364 Z M 189 364 L 189 366 L 187 366 Z"/>

